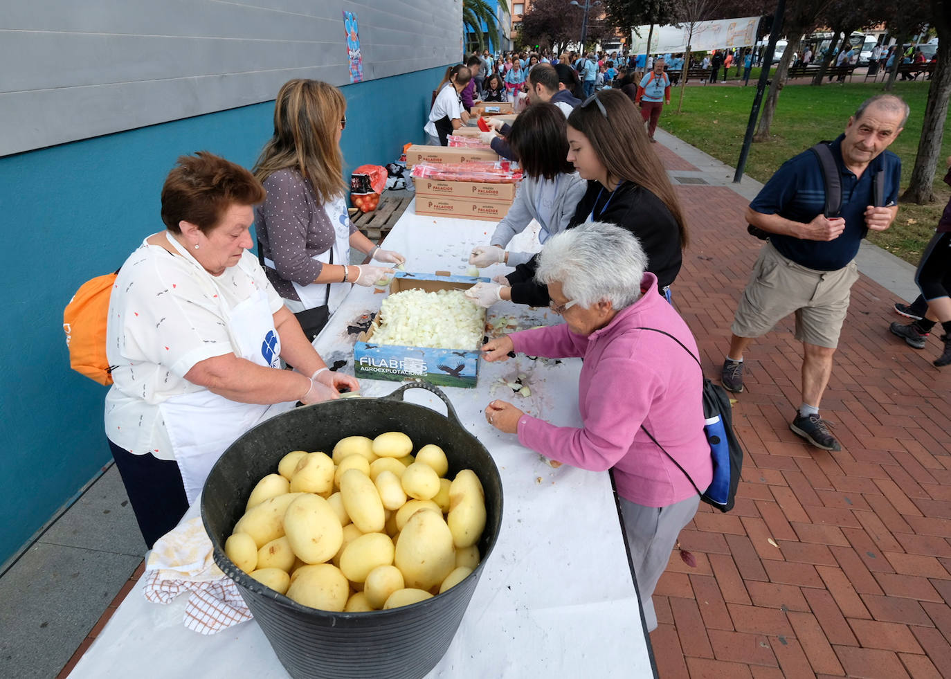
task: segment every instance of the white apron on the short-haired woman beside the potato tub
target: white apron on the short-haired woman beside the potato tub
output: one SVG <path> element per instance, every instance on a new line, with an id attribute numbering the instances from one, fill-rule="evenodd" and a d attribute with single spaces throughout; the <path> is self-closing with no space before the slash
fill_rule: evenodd
<path id="1" fill-rule="evenodd" d="M 174 239 L 168 239 L 185 259 L 194 258 Z M 200 266 L 198 262 L 195 265 Z M 204 273 L 204 269 L 202 269 Z M 207 274 L 206 274 L 207 275 Z M 216 286 L 214 279 L 207 278 Z M 219 296 L 221 299 L 221 296 Z M 274 327 L 267 294 L 263 290 L 235 308 L 222 308 L 235 354 L 258 365 L 280 368 L 281 339 Z M 294 407 L 294 401 L 261 405 L 239 403 L 208 390 L 172 397 L 159 404 L 165 430 L 191 504 L 202 492 L 204 479 L 224 450 L 238 436 L 259 422 Z"/>

